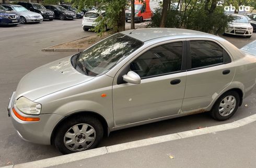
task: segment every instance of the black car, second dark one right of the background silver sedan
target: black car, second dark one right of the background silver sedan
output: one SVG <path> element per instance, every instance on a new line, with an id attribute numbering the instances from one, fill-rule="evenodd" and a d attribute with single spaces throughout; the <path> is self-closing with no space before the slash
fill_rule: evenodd
<path id="1" fill-rule="evenodd" d="M 68 11 L 60 5 L 43 5 L 46 9 L 52 10 L 55 14 L 55 18 L 61 20 L 71 20 L 76 18 L 76 13 L 73 11 Z"/>

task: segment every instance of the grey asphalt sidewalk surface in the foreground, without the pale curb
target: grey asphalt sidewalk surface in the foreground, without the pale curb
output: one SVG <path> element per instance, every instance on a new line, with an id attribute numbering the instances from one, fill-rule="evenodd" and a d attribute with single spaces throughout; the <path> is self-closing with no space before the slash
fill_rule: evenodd
<path id="1" fill-rule="evenodd" d="M 256 122 L 54 167 L 256 167 L 255 127 Z"/>

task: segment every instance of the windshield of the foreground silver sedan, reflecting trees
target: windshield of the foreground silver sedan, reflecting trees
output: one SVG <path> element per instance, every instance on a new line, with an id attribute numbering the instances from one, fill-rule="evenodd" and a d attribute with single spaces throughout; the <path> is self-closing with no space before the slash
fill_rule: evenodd
<path id="1" fill-rule="evenodd" d="M 80 53 L 73 66 L 89 76 L 101 75 L 142 45 L 135 38 L 117 33 Z"/>

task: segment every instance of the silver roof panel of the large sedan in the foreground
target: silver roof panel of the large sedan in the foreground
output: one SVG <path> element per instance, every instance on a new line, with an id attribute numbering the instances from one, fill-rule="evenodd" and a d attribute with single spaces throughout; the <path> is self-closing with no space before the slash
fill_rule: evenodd
<path id="1" fill-rule="evenodd" d="M 137 40 L 146 42 L 161 37 L 172 37 L 172 38 L 193 38 L 193 37 L 208 37 L 216 38 L 217 36 L 213 34 L 208 34 L 204 32 L 199 32 L 195 30 L 188 29 L 176 29 L 176 28 L 145 28 L 145 29 L 135 29 L 127 30 L 121 32 L 125 35 L 129 35 Z"/>

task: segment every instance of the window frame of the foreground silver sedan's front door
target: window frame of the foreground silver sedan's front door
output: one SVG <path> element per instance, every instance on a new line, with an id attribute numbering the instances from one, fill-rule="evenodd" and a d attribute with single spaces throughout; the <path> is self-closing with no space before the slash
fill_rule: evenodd
<path id="1" fill-rule="evenodd" d="M 182 60 L 181 60 L 181 70 L 180 71 L 174 71 L 174 72 L 169 72 L 169 73 L 162 73 L 162 74 L 157 74 L 157 75 L 151 75 L 151 76 L 146 76 L 146 77 L 141 77 L 141 80 L 144 79 L 150 79 L 153 77 L 159 77 L 159 76 L 164 76 L 164 75 L 170 75 L 170 74 L 176 74 L 176 73 L 182 73 L 187 71 L 187 41 L 186 38 L 179 38 L 179 39 L 173 39 L 173 40 L 167 40 L 167 41 L 162 41 L 160 43 L 156 43 L 154 45 L 151 45 L 147 48 L 144 48 L 142 51 L 140 51 L 138 54 L 136 54 L 133 58 L 131 58 L 129 61 L 127 61 L 124 66 L 117 72 L 118 77 L 117 77 L 117 84 L 123 84 L 127 83 L 123 81 L 123 75 L 127 74 L 130 70 L 130 64 L 135 61 L 138 57 L 142 56 L 145 54 L 148 50 L 153 49 L 155 47 L 161 46 L 161 45 L 166 45 L 170 43 L 177 43 L 177 42 L 182 42 Z M 142 46 L 143 47 L 143 46 Z"/>

